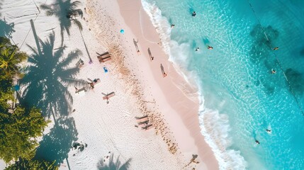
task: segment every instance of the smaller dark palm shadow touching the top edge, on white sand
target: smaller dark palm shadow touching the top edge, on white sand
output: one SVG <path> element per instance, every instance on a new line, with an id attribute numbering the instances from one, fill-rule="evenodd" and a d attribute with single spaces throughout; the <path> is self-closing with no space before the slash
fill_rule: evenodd
<path id="1" fill-rule="evenodd" d="M 78 26 L 79 30 L 82 30 L 81 23 L 76 19 L 76 16 L 81 16 L 81 18 L 83 16 L 81 9 L 77 8 L 79 4 L 81 4 L 80 1 L 74 1 L 71 3 L 71 0 L 58 0 L 55 4 L 44 4 L 40 6 L 46 10 L 47 16 L 55 15 L 59 19 L 62 45 L 64 40 L 64 30 L 67 31 L 67 35 L 69 35 L 69 28 L 72 26 L 72 21 Z"/>

